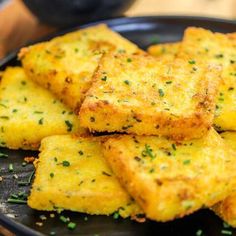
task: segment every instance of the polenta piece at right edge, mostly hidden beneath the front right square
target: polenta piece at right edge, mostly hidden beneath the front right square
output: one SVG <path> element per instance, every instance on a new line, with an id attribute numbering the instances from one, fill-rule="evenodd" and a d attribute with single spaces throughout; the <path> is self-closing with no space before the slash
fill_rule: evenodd
<path id="1" fill-rule="evenodd" d="M 221 134 L 225 142 L 234 150 L 236 158 L 236 132 L 224 132 Z M 236 185 L 235 185 L 236 186 Z M 236 227 L 236 193 L 230 194 L 222 202 L 216 204 L 213 210 L 229 225 Z"/>

